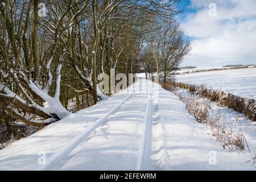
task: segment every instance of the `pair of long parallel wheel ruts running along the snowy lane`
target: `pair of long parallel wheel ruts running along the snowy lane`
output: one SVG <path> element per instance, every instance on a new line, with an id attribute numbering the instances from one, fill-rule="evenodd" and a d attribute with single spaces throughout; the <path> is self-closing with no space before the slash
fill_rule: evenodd
<path id="1" fill-rule="evenodd" d="M 141 147 L 139 150 L 139 156 L 137 160 L 137 167 L 136 167 L 137 170 L 144 169 L 144 165 L 147 160 L 146 158 L 150 156 L 150 152 L 151 152 L 150 143 L 148 144 L 148 142 L 151 141 L 152 115 L 154 114 L 151 86 L 152 86 L 151 84 L 147 86 L 148 98 L 147 98 L 147 106 L 144 114 L 144 119 L 143 119 L 142 140 L 141 140 Z M 86 138 L 88 138 L 88 136 L 94 130 L 104 125 L 108 121 L 108 118 L 111 115 L 115 114 L 119 110 L 119 107 L 125 104 L 125 102 L 128 101 L 131 98 L 131 96 L 133 96 L 134 93 L 135 92 L 126 96 L 121 102 L 119 102 L 118 105 L 115 105 L 106 114 L 98 118 L 85 131 L 82 131 L 82 133 L 80 133 L 79 135 L 77 135 L 77 137 L 69 141 L 63 148 L 55 152 L 55 154 L 51 155 L 47 159 L 46 165 L 39 166 L 35 170 L 38 170 L 38 171 L 51 170 L 55 166 L 55 164 L 58 164 L 59 162 L 61 162 L 61 160 L 65 159 L 65 157 L 68 156 L 82 141 L 86 140 Z"/>

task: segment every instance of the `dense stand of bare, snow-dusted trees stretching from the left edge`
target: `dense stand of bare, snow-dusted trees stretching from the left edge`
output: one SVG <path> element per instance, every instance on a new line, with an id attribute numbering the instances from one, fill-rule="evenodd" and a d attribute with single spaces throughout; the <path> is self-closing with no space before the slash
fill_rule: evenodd
<path id="1" fill-rule="evenodd" d="M 128 75 L 144 66 L 166 80 L 189 51 L 174 18 L 178 3 L 1 0 L 1 114 L 27 125 L 57 121 L 73 97 L 96 104 L 97 75 L 113 69 Z"/>

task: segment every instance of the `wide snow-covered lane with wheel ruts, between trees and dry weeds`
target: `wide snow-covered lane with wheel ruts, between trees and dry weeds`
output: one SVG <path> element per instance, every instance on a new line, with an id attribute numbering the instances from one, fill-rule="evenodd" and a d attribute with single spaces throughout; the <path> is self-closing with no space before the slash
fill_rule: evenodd
<path id="1" fill-rule="evenodd" d="M 256 127 L 250 127 L 255 148 Z M 246 163 L 254 152 L 224 150 L 175 94 L 139 79 L 109 100 L 4 148 L 0 169 L 255 170 Z"/>

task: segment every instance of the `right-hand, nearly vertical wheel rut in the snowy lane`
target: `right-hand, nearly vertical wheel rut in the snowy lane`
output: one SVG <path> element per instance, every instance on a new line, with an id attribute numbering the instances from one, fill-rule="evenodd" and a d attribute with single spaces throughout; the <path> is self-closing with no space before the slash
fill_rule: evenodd
<path id="1" fill-rule="evenodd" d="M 149 81 L 147 81 L 149 84 Z M 141 150 L 139 151 L 139 158 L 137 163 L 137 170 L 141 171 L 144 168 L 145 159 L 147 156 L 150 157 L 151 154 L 151 146 L 148 146 L 151 142 L 151 125 L 152 125 L 152 92 L 151 87 L 147 86 L 148 89 L 148 98 L 147 98 L 147 106 L 146 112 L 143 119 L 143 130 L 142 130 L 142 143 L 141 143 Z"/>

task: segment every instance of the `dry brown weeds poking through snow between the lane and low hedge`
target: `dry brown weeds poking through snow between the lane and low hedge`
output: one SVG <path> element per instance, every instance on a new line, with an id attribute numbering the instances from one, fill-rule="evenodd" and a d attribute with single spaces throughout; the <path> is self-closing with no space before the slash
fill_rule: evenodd
<path id="1" fill-rule="evenodd" d="M 212 136 L 223 148 L 229 148 L 230 151 L 250 151 L 239 117 L 227 118 L 227 113 L 224 111 L 213 110 L 210 101 L 206 98 L 179 90 L 174 93 L 185 103 L 185 109 L 197 122 L 210 127 Z"/>

